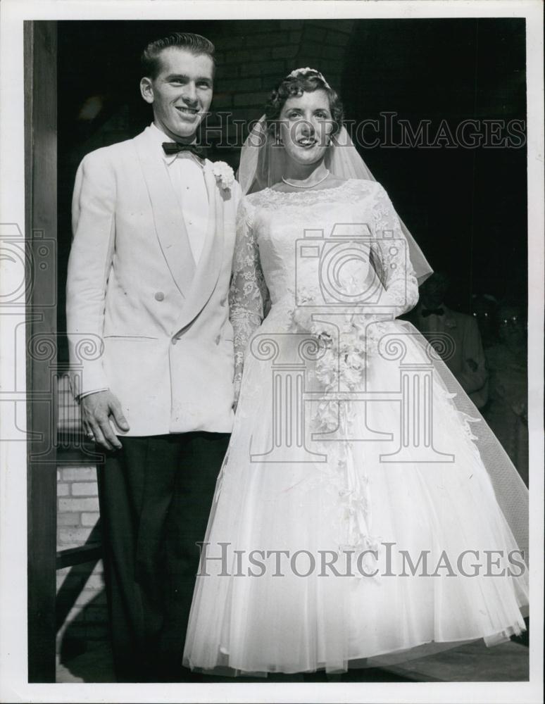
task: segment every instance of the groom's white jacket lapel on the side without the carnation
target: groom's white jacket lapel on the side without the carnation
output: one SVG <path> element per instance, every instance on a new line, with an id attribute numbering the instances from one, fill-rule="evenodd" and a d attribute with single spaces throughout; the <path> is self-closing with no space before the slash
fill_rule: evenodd
<path id="1" fill-rule="evenodd" d="M 163 256 L 175 284 L 187 298 L 195 275 L 195 261 L 189 246 L 180 201 L 168 175 L 168 166 L 149 130 L 150 128 L 146 127 L 142 134 L 135 137 L 134 144 L 142 165 Z"/>

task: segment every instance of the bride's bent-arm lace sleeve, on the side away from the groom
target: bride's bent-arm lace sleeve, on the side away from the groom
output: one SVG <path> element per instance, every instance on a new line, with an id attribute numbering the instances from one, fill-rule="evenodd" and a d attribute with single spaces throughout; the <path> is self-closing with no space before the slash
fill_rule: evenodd
<path id="1" fill-rule="evenodd" d="M 418 282 L 398 215 L 380 184 L 377 184 L 372 210 L 375 240 L 371 250 L 377 274 L 384 287 L 380 296 L 380 309 L 372 312 L 390 313 L 397 318 L 418 303 Z"/>

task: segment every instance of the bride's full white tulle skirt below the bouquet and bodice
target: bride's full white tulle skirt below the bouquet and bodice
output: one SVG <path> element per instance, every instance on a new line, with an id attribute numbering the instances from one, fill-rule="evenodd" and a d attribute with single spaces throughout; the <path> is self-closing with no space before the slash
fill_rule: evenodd
<path id="1" fill-rule="evenodd" d="M 342 672 L 523 631 L 527 491 L 444 363 L 393 321 L 364 393 L 324 403 L 280 322 L 246 356 L 184 665 Z"/>

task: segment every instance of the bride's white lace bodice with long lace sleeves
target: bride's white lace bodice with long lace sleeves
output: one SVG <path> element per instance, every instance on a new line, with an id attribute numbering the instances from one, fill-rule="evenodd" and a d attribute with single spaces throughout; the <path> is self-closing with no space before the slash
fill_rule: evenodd
<path id="1" fill-rule="evenodd" d="M 415 306 L 406 239 L 380 184 L 351 179 L 315 191 L 268 188 L 242 199 L 230 287 L 235 382 L 269 305 L 287 303 L 289 310 L 301 291 L 324 306 L 365 299 L 369 314 L 397 317 Z"/>

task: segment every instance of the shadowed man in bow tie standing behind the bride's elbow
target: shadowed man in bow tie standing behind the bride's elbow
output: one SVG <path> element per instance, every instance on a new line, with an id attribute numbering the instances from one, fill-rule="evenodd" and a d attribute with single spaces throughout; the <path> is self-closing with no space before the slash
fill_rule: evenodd
<path id="1" fill-rule="evenodd" d="M 488 400 L 488 372 L 479 328 L 471 315 L 444 305 L 449 285 L 446 274 L 434 272 L 420 287 L 418 305 L 409 318 L 424 335 L 441 333 L 451 338 L 452 354 L 445 356 L 445 364 L 475 406 L 483 408 Z"/>

